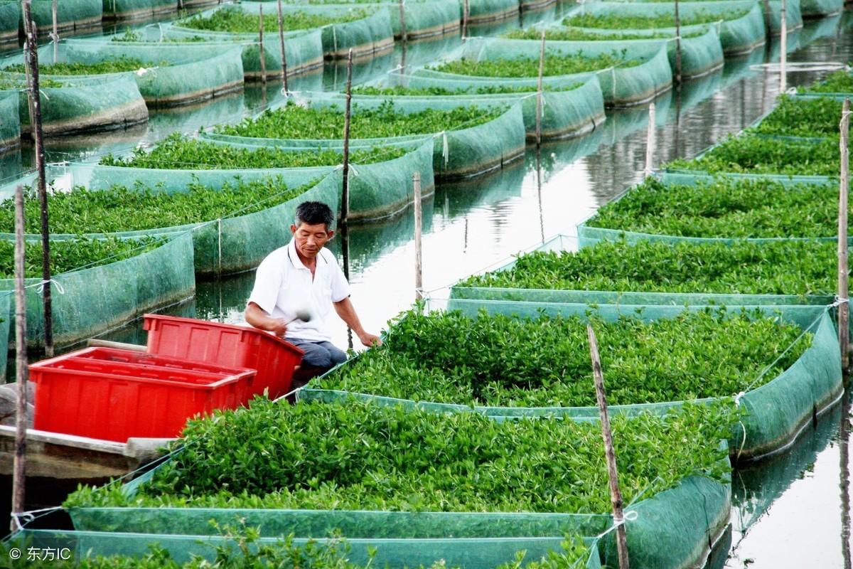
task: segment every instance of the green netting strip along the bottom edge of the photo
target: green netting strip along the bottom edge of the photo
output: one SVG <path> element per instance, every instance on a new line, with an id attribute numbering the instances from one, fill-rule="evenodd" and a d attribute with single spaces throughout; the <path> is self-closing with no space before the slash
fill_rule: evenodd
<path id="1" fill-rule="evenodd" d="M 284 535 L 287 535 L 287 531 Z M 194 556 L 214 560 L 217 547 L 225 547 L 236 552 L 237 544 L 223 537 L 193 535 L 158 535 L 146 533 L 110 533 L 98 531 L 55 531 L 23 530 L 10 538 L 13 543 L 26 544 L 26 547 L 68 548 L 76 559 L 87 555 L 123 555 L 134 558 L 150 552 L 149 546 L 156 544 L 169 551 L 172 559 L 187 562 Z M 258 545 L 273 545 L 281 537 L 262 537 Z M 348 550 L 345 558 L 358 566 L 425 566 L 429 567 L 437 560 L 445 560 L 448 565 L 487 569 L 511 562 L 516 551 L 525 550 L 525 561 L 539 560 L 548 551 L 560 551 L 562 537 L 516 537 L 492 539 L 347 539 Z M 294 546 L 328 543 L 325 538 L 296 538 Z M 340 543 L 334 541 L 331 543 Z M 599 552 L 593 540 L 587 540 L 589 558 L 583 565 L 587 569 L 601 569 Z M 251 546 L 250 546 L 251 547 Z M 371 550 L 374 549 L 374 555 Z M 24 549 L 26 551 L 26 549 Z M 372 559 L 372 560 L 371 560 Z"/>

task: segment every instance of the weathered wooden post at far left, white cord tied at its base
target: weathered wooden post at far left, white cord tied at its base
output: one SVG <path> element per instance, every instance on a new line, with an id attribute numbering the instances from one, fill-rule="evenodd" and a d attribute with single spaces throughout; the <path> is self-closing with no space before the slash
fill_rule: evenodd
<path id="1" fill-rule="evenodd" d="M 15 189 L 15 365 L 18 404 L 15 409 L 15 458 L 12 466 L 12 514 L 24 511 L 26 485 L 26 296 L 24 293 L 24 189 Z M 15 520 L 11 529 L 14 531 Z"/>

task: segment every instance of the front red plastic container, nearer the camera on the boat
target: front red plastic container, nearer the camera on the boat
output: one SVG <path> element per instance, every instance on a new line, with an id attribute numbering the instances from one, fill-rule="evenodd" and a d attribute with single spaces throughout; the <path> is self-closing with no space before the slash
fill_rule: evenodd
<path id="1" fill-rule="evenodd" d="M 34 427 L 124 443 L 181 434 L 189 417 L 233 409 L 252 392 L 253 369 L 88 348 L 33 363 Z"/>

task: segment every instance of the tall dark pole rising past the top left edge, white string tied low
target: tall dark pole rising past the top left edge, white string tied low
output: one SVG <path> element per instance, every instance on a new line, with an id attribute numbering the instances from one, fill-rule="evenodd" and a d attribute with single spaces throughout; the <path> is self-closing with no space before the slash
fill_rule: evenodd
<path id="1" fill-rule="evenodd" d="M 44 353 L 53 357 L 53 308 L 50 296 L 50 231 L 48 226 L 48 192 L 44 173 L 44 133 L 42 132 L 42 105 L 38 80 L 38 36 L 36 23 L 32 20 L 29 0 L 22 4 L 24 9 L 24 32 L 26 34 L 26 69 L 29 71 L 28 102 L 30 128 L 36 151 L 38 170 L 38 202 L 41 206 L 42 226 L 42 280 L 44 281 Z"/>

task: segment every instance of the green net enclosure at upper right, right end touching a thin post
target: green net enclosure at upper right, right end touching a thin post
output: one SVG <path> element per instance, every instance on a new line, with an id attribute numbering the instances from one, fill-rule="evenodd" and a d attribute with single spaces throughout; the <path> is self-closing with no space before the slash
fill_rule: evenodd
<path id="1" fill-rule="evenodd" d="M 593 69 L 584 70 L 583 74 L 595 72 L 601 84 L 601 93 L 607 107 L 630 107 L 650 101 L 654 96 L 670 90 L 672 87 L 672 69 L 664 41 L 653 41 L 635 46 L 630 52 L 621 41 L 554 41 L 547 42 L 546 60 L 549 56 L 555 58 L 573 57 L 591 60 Z M 489 67 L 508 67 L 514 64 L 524 64 L 525 71 L 518 73 L 516 78 L 525 78 L 530 84 L 536 84 L 538 73 L 539 52 L 541 42 L 525 39 L 502 38 L 471 38 L 461 49 L 456 50 L 446 59 L 439 62 L 443 67 L 449 61 L 485 62 Z M 595 61 L 610 60 L 615 64 L 595 68 Z M 529 65 L 527 65 L 529 64 Z M 468 75 L 448 73 L 444 70 L 425 69 L 416 74 L 440 77 L 445 79 L 465 80 L 478 84 L 508 78 L 508 72 L 490 73 L 485 75 Z M 565 84 L 571 80 L 572 74 L 558 76 L 546 75 L 543 84 L 552 81 Z"/>

